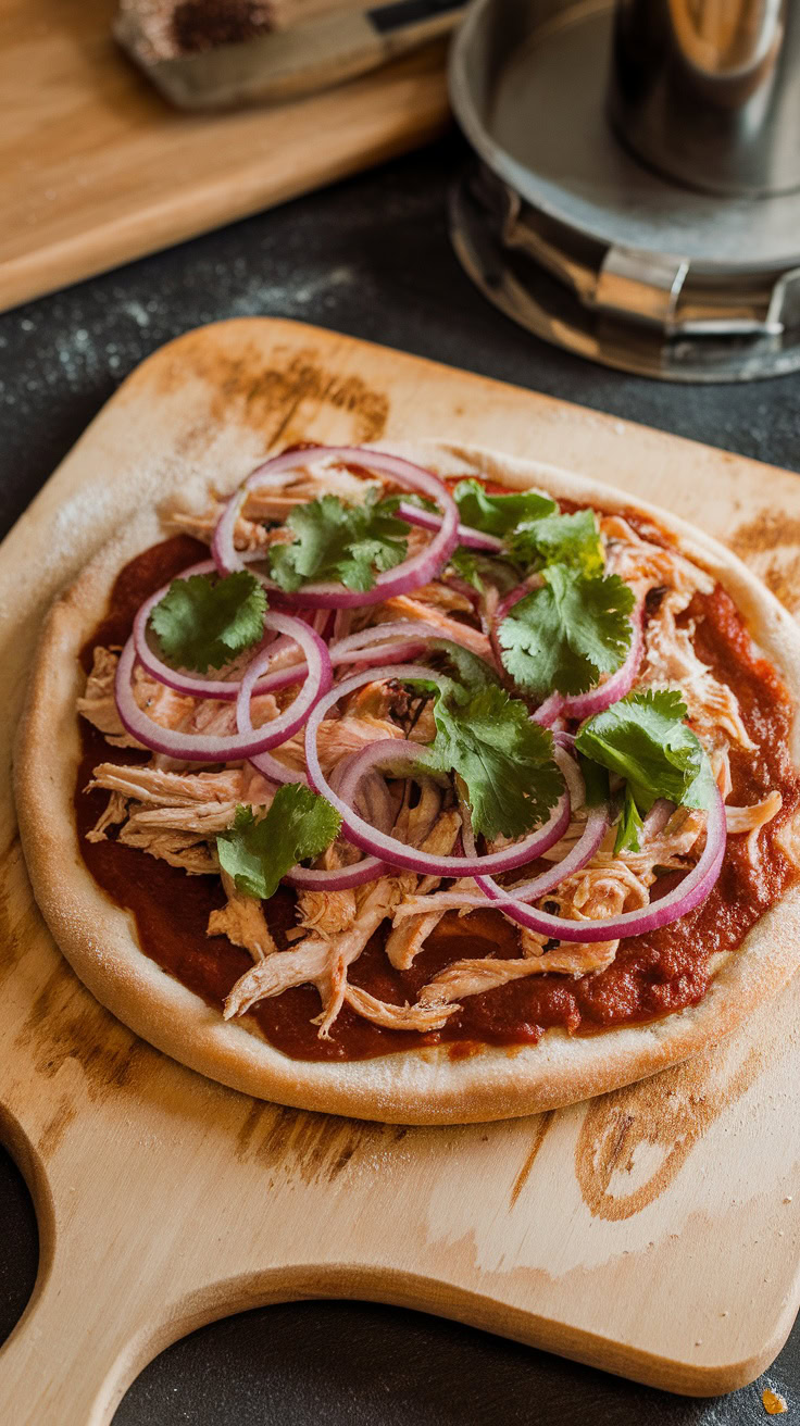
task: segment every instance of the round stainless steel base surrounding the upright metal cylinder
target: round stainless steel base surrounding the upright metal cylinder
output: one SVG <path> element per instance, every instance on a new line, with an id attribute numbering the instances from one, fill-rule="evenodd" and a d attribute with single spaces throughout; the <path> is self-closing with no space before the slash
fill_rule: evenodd
<path id="1" fill-rule="evenodd" d="M 643 168 L 605 114 L 609 0 L 476 0 L 451 60 L 481 164 L 456 252 L 539 337 L 669 381 L 800 368 L 800 193 L 722 198 Z"/>

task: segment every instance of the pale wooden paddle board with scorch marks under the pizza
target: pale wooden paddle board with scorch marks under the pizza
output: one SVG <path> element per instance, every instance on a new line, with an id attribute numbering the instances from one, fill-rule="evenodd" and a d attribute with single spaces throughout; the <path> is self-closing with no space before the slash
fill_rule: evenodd
<path id="1" fill-rule="evenodd" d="M 615 481 L 800 600 L 784 471 L 292 322 L 207 327 L 130 376 L 0 550 L 0 1122 L 41 1236 L 3 1422 L 98 1426 L 175 1338 L 294 1298 L 421 1308 L 699 1395 L 752 1380 L 789 1333 L 800 983 L 746 1034 L 633 1088 L 404 1129 L 277 1108 L 167 1060 L 78 984 L 31 901 L 7 779 L 29 650 L 128 475 L 144 463 L 158 499 L 175 469 L 212 479 L 304 438 L 421 435 Z"/>

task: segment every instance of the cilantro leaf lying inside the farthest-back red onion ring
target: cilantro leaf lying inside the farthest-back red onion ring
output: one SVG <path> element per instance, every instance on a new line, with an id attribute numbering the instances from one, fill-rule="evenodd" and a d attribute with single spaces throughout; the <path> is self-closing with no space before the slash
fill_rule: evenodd
<path id="1" fill-rule="evenodd" d="M 287 593 L 308 580 L 341 580 L 364 593 L 375 572 L 401 565 L 408 552 L 408 525 L 395 516 L 396 499 L 381 499 L 371 486 L 361 505 L 345 505 L 337 495 L 322 495 L 297 505 L 287 516 L 291 545 L 272 545 L 272 579 Z"/>

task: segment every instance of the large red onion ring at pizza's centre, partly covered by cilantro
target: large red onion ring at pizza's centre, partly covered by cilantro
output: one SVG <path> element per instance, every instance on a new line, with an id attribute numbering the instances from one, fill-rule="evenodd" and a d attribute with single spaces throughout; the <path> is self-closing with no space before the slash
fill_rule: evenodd
<path id="1" fill-rule="evenodd" d="M 443 683 L 443 680 L 434 673 L 434 670 L 425 667 L 425 665 L 415 663 L 401 665 L 399 667 L 388 665 L 384 669 L 369 669 L 365 673 L 357 673 L 352 677 L 345 679 L 344 683 L 319 699 L 311 713 L 311 717 L 308 719 L 305 730 L 305 761 L 308 767 L 308 780 L 314 787 L 314 791 L 327 797 L 339 813 L 342 819 L 342 829 L 348 841 L 352 841 L 357 847 L 362 847 L 364 851 L 368 851 L 371 856 L 381 857 L 394 867 L 416 871 L 421 876 L 432 874 L 439 877 L 466 877 L 473 876 L 481 870 L 513 871 L 515 867 L 520 867 L 526 861 L 533 861 L 563 836 L 569 826 L 569 797 L 566 790 L 542 827 L 530 833 L 522 841 L 516 841 L 511 847 L 505 847 L 502 851 L 488 853 L 483 857 L 476 854 L 475 844 L 469 857 L 436 857 L 431 853 L 408 847 L 396 837 L 381 833 L 375 827 L 371 827 L 369 823 L 364 821 L 364 819 L 359 817 L 347 801 L 337 796 L 329 781 L 325 779 L 319 764 L 319 754 L 317 752 L 317 733 L 322 719 L 339 699 L 347 697 L 348 693 L 355 693 L 355 690 L 362 687 L 365 683 L 381 679 L 398 679 L 399 682 L 424 679 L 428 683 Z M 406 760 L 409 763 L 424 766 L 425 749 L 418 743 L 411 743 L 405 739 L 392 739 L 391 742 L 395 744 L 391 749 L 392 761 Z"/>

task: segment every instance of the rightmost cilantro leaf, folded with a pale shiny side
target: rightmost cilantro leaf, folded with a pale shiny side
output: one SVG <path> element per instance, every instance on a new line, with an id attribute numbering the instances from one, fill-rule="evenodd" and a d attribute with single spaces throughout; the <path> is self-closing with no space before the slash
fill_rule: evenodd
<path id="1" fill-rule="evenodd" d="M 639 813 L 647 813 L 657 797 L 706 807 L 713 774 L 703 744 L 684 717 L 686 704 L 676 689 L 629 693 L 590 717 L 578 733 L 576 746 L 627 780 Z"/>

